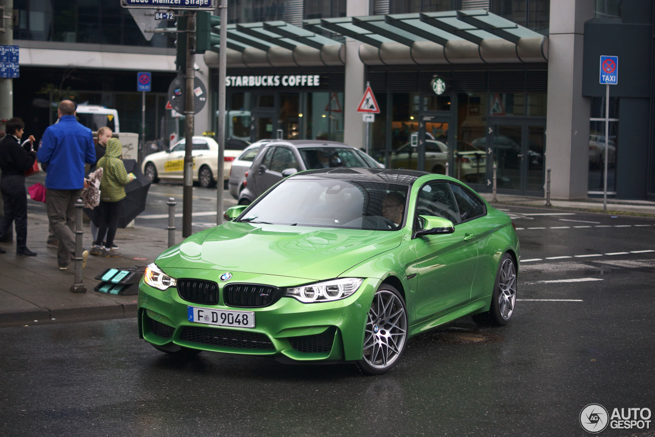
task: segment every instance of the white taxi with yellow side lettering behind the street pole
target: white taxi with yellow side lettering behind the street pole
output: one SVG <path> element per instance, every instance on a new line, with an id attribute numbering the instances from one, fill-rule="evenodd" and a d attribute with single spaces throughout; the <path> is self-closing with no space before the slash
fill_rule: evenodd
<path id="1" fill-rule="evenodd" d="M 143 174 L 153 182 L 159 179 L 184 177 L 185 140 L 181 140 L 170 152 L 157 152 L 143 160 Z M 247 143 L 244 143 L 247 144 Z M 242 150 L 225 149 L 223 157 L 223 186 L 230 177 L 232 161 Z M 202 187 L 215 186 L 218 173 L 218 143 L 208 136 L 193 137 L 193 181 Z"/>

